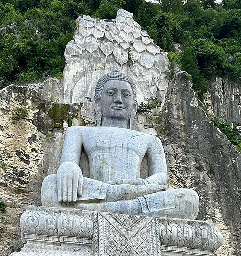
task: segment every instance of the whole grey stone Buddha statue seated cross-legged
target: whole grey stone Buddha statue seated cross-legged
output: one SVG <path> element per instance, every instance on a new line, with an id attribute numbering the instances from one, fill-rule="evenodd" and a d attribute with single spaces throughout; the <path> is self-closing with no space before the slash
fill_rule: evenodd
<path id="1" fill-rule="evenodd" d="M 42 184 L 43 206 L 73 207 L 163 218 L 195 219 L 199 197 L 191 189 L 167 189 L 168 172 L 159 138 L 132 130 L 137 111 L 136 86 L 119 71 L 99 79 L 94 105 L 98 127 L 67 130 L 57 174 Z M 79 161 L 84 149 L 89 177 Z M 140 178 L 147 155 L 149 177 Z"/>

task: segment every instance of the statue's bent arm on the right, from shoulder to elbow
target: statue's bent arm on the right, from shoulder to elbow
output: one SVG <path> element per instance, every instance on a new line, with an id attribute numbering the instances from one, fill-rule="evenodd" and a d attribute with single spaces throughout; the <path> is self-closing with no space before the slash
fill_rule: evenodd
<path id="1" fill-rule="evenodd" d="M 147 161 L 150 177 L 146 181 L 149 184 L 166 185 L 168 171 L 162 142 L 159 138 L 150 136 L 150 143 L 147 149 Z"/>

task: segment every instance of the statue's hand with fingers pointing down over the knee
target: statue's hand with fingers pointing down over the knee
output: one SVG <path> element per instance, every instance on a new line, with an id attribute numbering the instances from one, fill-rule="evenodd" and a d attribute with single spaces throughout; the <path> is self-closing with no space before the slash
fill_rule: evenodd
<path id="1" fill-rule="evenodd" d="M 76 202 L 82 196 L 83 175 L 74 162 L 63 162 L 57 171 L 57 193 L 59 202 Z"/>

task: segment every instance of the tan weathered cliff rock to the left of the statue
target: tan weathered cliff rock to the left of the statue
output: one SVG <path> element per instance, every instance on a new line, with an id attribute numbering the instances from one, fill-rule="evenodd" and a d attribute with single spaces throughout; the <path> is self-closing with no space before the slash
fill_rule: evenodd
<path id="1" fill-rule="evenodd" d="M 42 180 L 59 167 L 65 131 L 53 129 L 57 121 L 48 113 L 56 106 L 50 100 L 59 97 L 56 86 L 58 79 L 48 79 L 0 91 L 0 200 L 7 206 L 0 217 L 1 256 L 22 246 L 19 219 L 24 206 L 41 203 Z M 60 128 L 64 120 L 78 115 L 78 106 L 58 106 Z"/>

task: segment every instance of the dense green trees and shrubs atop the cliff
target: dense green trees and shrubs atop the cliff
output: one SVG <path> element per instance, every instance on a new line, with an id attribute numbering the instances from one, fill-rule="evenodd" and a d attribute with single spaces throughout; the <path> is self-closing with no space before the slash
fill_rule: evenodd
<path id="1" fill-rule="evenodd" d="M 119 8 L 134 13 L 171 61 L 191 74 L 200 97 L 215 74 L 241 79 L 239 0 L 0 0 L 0 88 L 61 77 L 76 18 L 112 19 Z"/>

